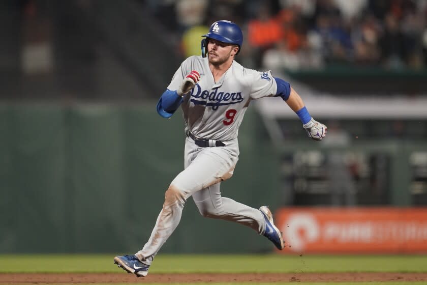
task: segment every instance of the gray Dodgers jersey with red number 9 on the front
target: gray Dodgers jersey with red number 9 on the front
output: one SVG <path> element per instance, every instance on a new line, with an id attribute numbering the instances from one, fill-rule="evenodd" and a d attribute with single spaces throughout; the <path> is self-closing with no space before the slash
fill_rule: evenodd
<path id="1" fill-rule="evenodd" d="M 259 72 L 233 61 L 219 82 L 215 82 L 208 59 L 190 56 L 175 72 L 169 90 L 177 90 L 192 70 L 200 81 L 182 103 L 186 127 L 196 136 L 228 141 L 235 139 L 246 109 L 252 99 L 274 96 L 276 80 L 271 71 Z"/>

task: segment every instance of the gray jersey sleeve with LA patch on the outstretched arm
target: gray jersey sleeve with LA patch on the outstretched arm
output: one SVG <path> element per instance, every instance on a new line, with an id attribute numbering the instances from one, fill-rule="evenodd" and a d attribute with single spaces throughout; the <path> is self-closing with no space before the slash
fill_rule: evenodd
<path id="1" fill-rule="evenodd" d="M 272 97 L 276 95 L 277 84 L 276 80 L 273 79 L 271 71 L 260 72 L 256 70 L 250 70 L 251 82 L 251 98 L 259 99 L 262 97 Z"/>

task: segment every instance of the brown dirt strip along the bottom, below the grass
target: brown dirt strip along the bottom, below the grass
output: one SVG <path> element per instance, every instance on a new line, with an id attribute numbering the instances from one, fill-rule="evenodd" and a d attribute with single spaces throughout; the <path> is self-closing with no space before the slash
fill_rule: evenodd
<path id="1" fill-rule="evenodd" d="M 427 281 L 427 273 L 173 273 L 136 277 L 126 273 L 0 273 L 0 284 L 17 283 L 192 283 L 192 282 Z"/>

